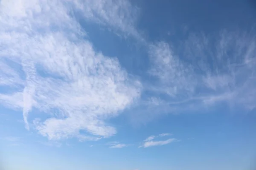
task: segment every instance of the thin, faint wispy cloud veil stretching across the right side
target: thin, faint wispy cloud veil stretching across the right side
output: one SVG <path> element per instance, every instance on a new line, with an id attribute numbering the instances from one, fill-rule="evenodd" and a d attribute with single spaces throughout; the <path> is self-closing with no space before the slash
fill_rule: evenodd
<path id="1" fill-rule="evenodd" d="M 159 82 L 148 89 L 161 101 L 151 105 L 165 107 L 167 113 L 178 112 L 180 105 L 202 108 L 219 102 L 252 110 L 256 107 L 255 44 L 255 37 L 246 32 L 222 31 L 212 37 L 191 34 L 179 48 L 166 42 L 151 45 L 150 74 Z"/>

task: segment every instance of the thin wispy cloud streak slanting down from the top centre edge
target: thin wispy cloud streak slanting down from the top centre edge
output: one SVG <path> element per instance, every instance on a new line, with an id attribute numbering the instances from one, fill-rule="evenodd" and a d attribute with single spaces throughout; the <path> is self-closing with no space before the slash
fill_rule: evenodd
<path id="1" fill-rule="evenodd" d="M 132 6 L 129 0 L 75 0 L 74 3 L 86 20 L 144 41 L 135 28 L 139 9 Z"/>

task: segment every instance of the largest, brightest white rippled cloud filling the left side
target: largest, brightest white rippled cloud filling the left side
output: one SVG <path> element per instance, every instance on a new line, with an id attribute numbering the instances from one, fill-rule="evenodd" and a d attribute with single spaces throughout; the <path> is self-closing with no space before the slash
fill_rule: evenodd
<path id="1" fill-rule="evenodd" d="M 107 3 L 101 8 L 101 1 L 91 2 L 84 7 L 98 11 L 105 22 L 112 20 L 108 12 L 115 6 Z M 119 5 L 126 4 L 120 1 L 114 9 Z M 0 65 L 4 65 L 0 85 L 13 87 L 0 94 L 0 102 L 23 109 L 27 128 L 33 109 L 48 114 L 48 119 L 35 119 L 34 125 L 49 139 L 91 140 L 81 137 L 80 130 L 96 139 L 112 136 L 116 129 L 105 119 L 117 116 L 140 97 L 140 82 L 131 79 L 115 57 L 93 49 L 67 6 L 59 0 L 0 1 Z M 122 22 L 120 29 L 126 31 L 129 22 L 123 18 Z"/>

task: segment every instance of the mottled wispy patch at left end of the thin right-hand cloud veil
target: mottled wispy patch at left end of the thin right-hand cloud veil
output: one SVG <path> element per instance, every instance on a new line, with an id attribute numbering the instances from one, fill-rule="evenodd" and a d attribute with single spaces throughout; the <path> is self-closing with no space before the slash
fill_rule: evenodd
<path id="1" fill-rule="evenodd" d="M 194 91 L 196 82 L 192 69 L 175 56 L 169 44 L 158 42 L 150 45 L 149 55 L 152 62 L 150 74 L 160 80 L 157 88 L 151 90 L 166 93 L 175 100 L 183 93 L 188 95 Z"/>

